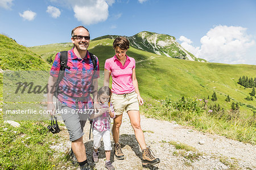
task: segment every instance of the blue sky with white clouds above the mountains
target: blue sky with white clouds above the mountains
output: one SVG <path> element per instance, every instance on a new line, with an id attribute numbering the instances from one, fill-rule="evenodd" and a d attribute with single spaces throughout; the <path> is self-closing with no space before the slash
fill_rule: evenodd
<path id="1" fill-rule="evenodd" d="M 92 39 L 151 31 L 210 62 L 256 65 L 254 0 L 0 0 L 0 34 L 27 47 L 71 42 L 80 25 Z"/>

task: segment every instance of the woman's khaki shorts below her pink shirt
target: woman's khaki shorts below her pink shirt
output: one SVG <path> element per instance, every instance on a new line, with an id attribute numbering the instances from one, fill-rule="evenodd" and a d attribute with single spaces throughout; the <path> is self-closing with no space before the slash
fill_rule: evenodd
<path id="1" fill-rule="evenodd" d="M 139 102 L 137 93 L 112 94 L 111 102 L 114 106 L 115 115 L 123 114 L 126 110 L 139 110 Z"/>

